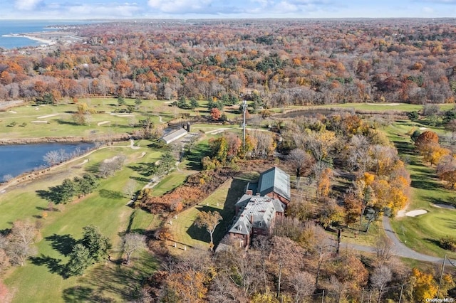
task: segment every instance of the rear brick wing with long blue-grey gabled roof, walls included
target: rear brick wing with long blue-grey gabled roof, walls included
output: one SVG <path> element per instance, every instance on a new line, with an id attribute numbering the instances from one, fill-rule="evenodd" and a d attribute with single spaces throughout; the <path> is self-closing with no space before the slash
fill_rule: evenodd
<path id="1" fill-rule="evenodd" d="M 291 200 L 290 175 L 277 167 L 268 169 L 259 175 L 258 182 L 249 183 L 246 193 L 276 198 L 288 204 Z"/>

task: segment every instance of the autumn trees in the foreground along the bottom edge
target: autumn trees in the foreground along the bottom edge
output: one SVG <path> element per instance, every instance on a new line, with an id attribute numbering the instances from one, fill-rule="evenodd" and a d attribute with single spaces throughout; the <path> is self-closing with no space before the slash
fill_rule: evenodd
<path id="1" fill-rule="evenodd" d="M 214 254 L 192 248 L 172 257 L 152 241 L 165 262 L 143 282 L 141 302 L 422 302 L 437 291 L 455 294 L 451 275 L 439 288 L 440 267 L 410 270 L 385 239 L 373 257 L 336 253 L 334 242 L 314 222 L 294 218 L 279 220 L 274 235 L 255 238 L 248 251 L 227 238 Z"/>

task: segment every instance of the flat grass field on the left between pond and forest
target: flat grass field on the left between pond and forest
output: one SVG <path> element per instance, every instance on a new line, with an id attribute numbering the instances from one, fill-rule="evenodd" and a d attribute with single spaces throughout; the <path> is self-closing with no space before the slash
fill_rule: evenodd
<path id="1" fill-rule="evenodd" d="M 143 100 L 142 105 L 132 113 L 115 113 L 120 108 L 117 99 L 93 98 L 81 99 L 98 113 L 90 115 L 88 125 L 78 125 L 73 122 L 72 113 L 78 105 L 59 103 L 58 105 L 24 105 L 14 107 L 6 112 L 0 112 L 0 135 L 7 139 L 31 137 L 63 137 L 81 136 L 97 137 L 103 134 L 133 132 L 131 124 L 138 124 L 140 119 L 150 117 L 152 122 L 160 124 L 167 122 L 185 110 L 170 107 L 163 101 Z M 134 105 L 134 100 L 125 99 L 127 105 Z"/>

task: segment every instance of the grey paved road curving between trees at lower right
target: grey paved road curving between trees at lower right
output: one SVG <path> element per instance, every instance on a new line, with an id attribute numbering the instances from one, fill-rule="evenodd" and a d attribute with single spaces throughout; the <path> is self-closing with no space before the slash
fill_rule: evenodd
<path id="1" fill-rule="evenodd" d="M 425 262 L 433 262 L 433 263 L 442 263 L 443 262 L 442 257 L 433 257 L 431 255 L 425 255 L 420 252 L 415 252 L 415 250 L 412 250 L 412 249 L 408 248 L 407 246 L 405 246 L 405 244 L 399 240 L 398 236 L 393 231 L 393 228 L 391 228 L 390 218 L 388 218 L 387 216 L 383 216 L 383 228 L 385 229 L 385 233 L 388 236 L 388 238 L 390 238 L 390 240 L 393 241 L 393 248 L 394 248 L 395 255 L 398 255 L 399 257 L 408 257 L 410 259 L 420 260 L 420 261 L 425 261 Z M 375 253 L 375 248 L 373 248 L 371 246 L 366 246 L 366 245 L 342 243 L 341 247 L 342 248 L 353 248 L 354 250 Z M 450 261 L 452 262 L 452 264 L 456 264 L 456 260 L 450 260 Z M 447 261 L 447 265 L 449 265 L 448 261 Z"/>

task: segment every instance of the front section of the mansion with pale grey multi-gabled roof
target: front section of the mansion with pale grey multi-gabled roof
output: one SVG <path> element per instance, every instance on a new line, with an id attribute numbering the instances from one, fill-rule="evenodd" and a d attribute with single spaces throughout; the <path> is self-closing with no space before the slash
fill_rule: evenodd
<path id="1" fill-rule="evenodd" d="M 236 217 L 228 234 L 245 247 L 255 236 L 269 235 L 276 217 L 284 216 L 285 208 L 279 199 L 246 194 L 236 203 Z"/>

